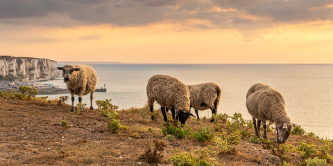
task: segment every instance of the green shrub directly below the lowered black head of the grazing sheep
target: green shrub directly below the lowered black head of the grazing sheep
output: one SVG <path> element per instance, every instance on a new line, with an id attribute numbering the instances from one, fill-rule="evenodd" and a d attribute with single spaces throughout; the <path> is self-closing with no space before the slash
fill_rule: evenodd
<path id="1" fill-rule="evenodd" d="M 163 124 L 164 128 L 162 133 L 166 136 L 170 134 L 176 138 L 184 139 L 186 136 L 191 136 L 193 131 L 191 128 L 184 129 L 183 124 L 180 124 L 178 120 L 168 120 Z"/>

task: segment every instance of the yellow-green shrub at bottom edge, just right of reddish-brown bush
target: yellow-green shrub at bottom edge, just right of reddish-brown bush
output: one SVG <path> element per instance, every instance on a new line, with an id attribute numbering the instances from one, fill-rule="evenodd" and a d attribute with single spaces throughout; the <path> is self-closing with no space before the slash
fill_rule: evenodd
<path id="1" fill-rule="evenodd" d="M 187 154 L 187 152 L 184 152 L 182 154 L 174 154 L 171 158 L 173 165 L 175 166 L 194 166 L 198 165 L 196 162 L 196 159 L 192 154 Z"/>

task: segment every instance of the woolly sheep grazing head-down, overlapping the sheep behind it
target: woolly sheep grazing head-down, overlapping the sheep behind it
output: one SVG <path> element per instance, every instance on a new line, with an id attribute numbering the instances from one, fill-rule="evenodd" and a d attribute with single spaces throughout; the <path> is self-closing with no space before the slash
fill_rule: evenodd
<path id="1" fill-rule="evenodd" d="M 175 109 L 177 110 L 176 119 L 182 124 L 185 124 L 189 116 L 194 116 L 189 112 L 189 89 L 177 78 L 170 75 L 153 75 L 148 80 L 146 90 L 150 111 L 153 112 L 154 101 L 156 101 L 161 105 L 164 121 L 168 120 L 165 113 L 166 107 L 171 109 L 173 119 L 175 119 Z M 153 120 L 153 116 L 151 119 Z"/>

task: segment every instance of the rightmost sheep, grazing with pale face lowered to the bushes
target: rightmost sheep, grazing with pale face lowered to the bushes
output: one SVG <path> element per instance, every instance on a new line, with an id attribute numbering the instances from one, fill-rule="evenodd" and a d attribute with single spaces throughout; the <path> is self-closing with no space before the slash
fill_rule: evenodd
<path id="1" fill-rule="evenodd" d="M 291 131 L 293 123 L 287 115 L 284 98 L 281 93 L 267 84 L 257 83 L 248 89 L 246 94 L 246 107 L 248 113 L 253 117 L 255 135 L 260 138 L 260 123 L 264 127 L 264 138 L 266 135 L 266 120 L 275 122 L 277 141 L 285 142 Z M 257 125 L 256 120 L 257 119 Z"/>

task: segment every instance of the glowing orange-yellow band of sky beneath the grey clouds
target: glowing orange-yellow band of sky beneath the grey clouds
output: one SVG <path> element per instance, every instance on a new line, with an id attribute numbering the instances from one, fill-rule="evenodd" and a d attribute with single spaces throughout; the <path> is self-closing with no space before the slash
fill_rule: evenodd
<path id="1" fill-rule="evenodd" d="M 179 11 L 181 6 L 166 8 Z M 215 20 L 221 16 L 214 19 L 171 17 L 121 26 L 103 22 L 84 24 L 84 21 L 73 26 L 7 24 L 3 20 L 13 19 L 0 19 L 0 55 L 122 63 L 333 63 L 332 20 L 274 21 L 273 16 L 251 15 L 236 7 L 188 11 L 188 15 L 237 12 L 237 19 L 232 14 L 221 24 Z M 313 6 L 309 10 L 323 10 L 318 8 L 332 9 L 332 4 Z M 44 19 L 49 17 L 60 22 L 73 21 L 54 13 Z M 247 24 L 246 20 L 252 22 Z M 228 24 L 231 26 L 224 26 Z"/>

